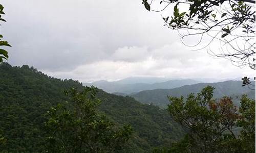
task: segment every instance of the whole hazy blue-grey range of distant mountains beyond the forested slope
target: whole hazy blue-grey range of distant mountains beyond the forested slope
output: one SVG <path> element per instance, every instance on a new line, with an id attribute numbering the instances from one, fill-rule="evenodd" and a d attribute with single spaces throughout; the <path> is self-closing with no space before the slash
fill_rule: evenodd
<path id="1" fill-rule="evenodd" d="M 242 78 L 242 77 L 241 77 Z M 242 94 L 247 94 L 255 99 L 255 90 L 242 87 L 241 78 L 234 79 L 176 79 L 167 78 L 143 78 L 132 77 L 119 81 L 97 81 L 93 83 L 83 83 L 84 86 L 96 86 L 106 92 L 121 96 L 132 96 L 144 104 L 153 104 L 160 108 L 165 108 L 169 103 L 167 95 L 187 96 L 189 93 L 198 93 L 205 86 L 216 88 L 215 98 L 231 96 L 234 103 L 238 103 Z M 252 82 L 252 84 L 254 84 Z"/>

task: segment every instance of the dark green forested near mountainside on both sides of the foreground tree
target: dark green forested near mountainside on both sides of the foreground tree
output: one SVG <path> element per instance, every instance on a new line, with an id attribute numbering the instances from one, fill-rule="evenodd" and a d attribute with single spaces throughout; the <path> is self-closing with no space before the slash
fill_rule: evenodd
<path id="1" fill-rule="evenodd" d="M 46 112 L 67 100 L 63 90 L 83 86 L 78 81 L 49 77 L 27 65 L 2 63 L 0 74 L 0 130 L 7 138 L 0 148 L 6 152 L 44 150 Z M 129 123 L 133 127 L 127 152 L 150 152 L 154 147 L 169 146 L 183 135 L 166 110 L 102 90 L 97 96 L 102 100 L 100 112 L 116 125 Z"/>

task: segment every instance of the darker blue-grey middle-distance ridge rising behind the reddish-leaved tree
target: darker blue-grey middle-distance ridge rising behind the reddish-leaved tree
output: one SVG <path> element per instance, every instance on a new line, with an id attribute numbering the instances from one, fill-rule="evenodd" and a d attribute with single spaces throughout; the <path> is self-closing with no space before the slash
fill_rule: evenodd
<path id="1" fill-rule="evenodd" d="M 254 83 L 255 84 L 255 83 Z M 170 96 L 186 96 L 189 93 L 198 93 L 205 86 L 213 86 L 216 88 L 214 91 L 214 98 L 221 98 L 223 96 L 232 96 L 234 99 L 239 100 L 241 94 L 247 94 L 250 98 L 255 99 L 255 90 L 248 87 L 242 87 L 242 81 L 225 81 L 218 83 L 198 83 L 194 85 L 185 85 L 174 89 L 155 89 L 145 90 L 130 96 L 144 104 L 154 104 L 161 108 L 165 108 L 169 103 L 167 95 Z M 255 87 L 254 87 L 255 88 Z"/>

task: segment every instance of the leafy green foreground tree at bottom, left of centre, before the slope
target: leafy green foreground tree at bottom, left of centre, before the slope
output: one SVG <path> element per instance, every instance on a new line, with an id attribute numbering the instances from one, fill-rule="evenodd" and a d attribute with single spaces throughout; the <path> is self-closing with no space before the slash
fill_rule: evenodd
<path id="1" fill-rule="evenodd" d="M 66 94 L 71 96 L 70 103 L 48 111 L 48 152 L 114 152 L 123 148 L 131 136 L 131 126 L 116 127 L 98 113 L 100 100 L 95 98 L 94 87 L 81 92 L 73 88 Z"/>

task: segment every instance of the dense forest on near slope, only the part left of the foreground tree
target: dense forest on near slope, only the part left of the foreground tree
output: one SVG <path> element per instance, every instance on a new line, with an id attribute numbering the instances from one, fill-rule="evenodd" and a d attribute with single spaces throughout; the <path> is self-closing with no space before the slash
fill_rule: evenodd
<path id="1" fill-rule="evenodd" d="M 41 152 L 46 112 L 67 100 L 63 90 L 81 88 L 81 84 L 5 62 L 0 64 L 0 73 L 0 129 L 7 139 L 0 148 L 6 152 Z"/>

